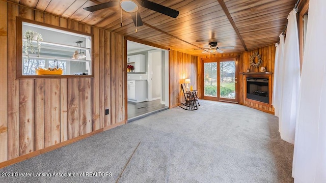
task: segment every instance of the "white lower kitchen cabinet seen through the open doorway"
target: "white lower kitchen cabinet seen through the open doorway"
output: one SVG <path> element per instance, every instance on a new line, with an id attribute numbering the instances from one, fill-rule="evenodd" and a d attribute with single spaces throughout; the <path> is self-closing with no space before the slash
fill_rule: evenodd
<path id="1" fill-rule="evenodd" d="M 132 102 L 144 102 L 147 98 L 147 80 L 128 80 L 128 100 Z"/>

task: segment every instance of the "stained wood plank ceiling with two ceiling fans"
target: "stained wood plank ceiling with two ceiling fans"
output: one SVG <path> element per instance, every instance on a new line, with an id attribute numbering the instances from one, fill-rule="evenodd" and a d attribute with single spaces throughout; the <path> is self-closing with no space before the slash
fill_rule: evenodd
<path id="1" fill-rule="evenodd" d="M 120 7 L 88 12 L 83 8 L 108 0 L 9 0 L 68 19 L 104 28 L 152 45 L 171 48 L 192 55 L 202 53 L 209 41 L 218 46 L 234 46 L 225 52 L 242 52 L 278 42 L 287 23 L 287 16 L 296 0 L 150 0 L 178 10 L 169 16 L 140 7 L 144 25 L 135 26 L 130 14 Z"/>

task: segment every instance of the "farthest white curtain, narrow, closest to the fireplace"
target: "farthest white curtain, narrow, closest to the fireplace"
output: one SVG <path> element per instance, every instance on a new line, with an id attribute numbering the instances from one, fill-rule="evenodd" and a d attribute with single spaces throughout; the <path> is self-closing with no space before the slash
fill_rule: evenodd
<path id="1" fill-rule="evenodd" d="M 283 54 L 284 54 L 284 35 L 280 34 L 280 44 L 276 47 L 275 54 L 275 66 L 274 66 L 274 85 L 273 85 L 273 103 L 275 115 L 279 116 L 280 110 L 280 102 L 281 102 L 281 84 L 282 84 L 282 74 L 283 67 L 279 67 L 279 65 L 283 65 Z M 279 127 L 281 127 L 279 125 Z"/>

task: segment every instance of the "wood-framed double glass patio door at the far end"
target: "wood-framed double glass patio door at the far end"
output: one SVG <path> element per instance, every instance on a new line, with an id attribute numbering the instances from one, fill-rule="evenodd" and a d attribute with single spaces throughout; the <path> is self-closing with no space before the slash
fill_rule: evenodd
<path id="1" fill-rule="evenodd" d="M 204 99 L 238 102 L 236 58 L 205 59 L 203 70 Z"/>

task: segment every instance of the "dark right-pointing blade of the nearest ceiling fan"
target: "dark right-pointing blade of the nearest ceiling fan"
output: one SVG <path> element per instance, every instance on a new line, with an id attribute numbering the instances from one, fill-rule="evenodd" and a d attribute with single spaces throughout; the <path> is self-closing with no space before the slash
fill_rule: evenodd
<path id="1" fill-rule="evenodd" d="M 154 10 L 156 12 L 159 12 L 161 14 L 165 14 L 168 15 L 172 18 L 177 18 L 177 16 L 179 15 L 179 11 L 173 10 L 171 8 L 159 5 L 157 3 L 153 3 L 147 0 L 142 0 L 140 1 L 140 4 L 142 5 L 142 7 L 150 9 L 150 10 Z"/>

